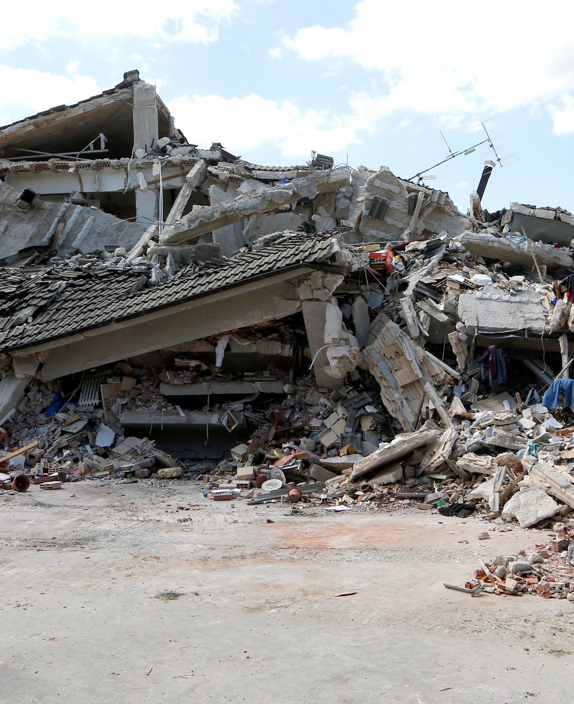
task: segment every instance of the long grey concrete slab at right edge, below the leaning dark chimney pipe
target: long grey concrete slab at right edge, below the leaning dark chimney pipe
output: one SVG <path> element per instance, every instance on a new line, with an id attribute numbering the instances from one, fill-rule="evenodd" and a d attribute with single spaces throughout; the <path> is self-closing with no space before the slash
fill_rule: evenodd
<path id="1" fill-rule="evenodd" d="M 534 267 L 534 260 L 526 242 L 515 244 L 506 237 L 475 232 L 464 232 L 458 240 L 471 254 L 520 264 L 529 269 Z M 542 242 L 530 242 L 530 245 L 539 264 L 549 268 L 573 268 L 574 260 L 563 249 L 556 249 L 551 244 Z"/>

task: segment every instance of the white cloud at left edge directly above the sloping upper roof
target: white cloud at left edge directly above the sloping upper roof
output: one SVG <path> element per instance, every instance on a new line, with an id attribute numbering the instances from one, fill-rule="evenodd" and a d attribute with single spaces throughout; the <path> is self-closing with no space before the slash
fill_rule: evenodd
<path id="1" fill-rule="evenodd" d="M 12 68 L 0 64 L 3 101 L 0 124 L 22 118 L 38 110 L 63 103 L 75 103 L 101 93 L 90 76 L 54 75 L 32 68 Z"/>

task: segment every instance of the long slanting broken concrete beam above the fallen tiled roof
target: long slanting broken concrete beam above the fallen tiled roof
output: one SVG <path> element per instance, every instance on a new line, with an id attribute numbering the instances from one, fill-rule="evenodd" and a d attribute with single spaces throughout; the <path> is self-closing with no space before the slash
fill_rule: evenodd
<path id="1" fill-rule="evenodd" d="M 349 180 L 346 169 L 317 171 L 297 178 L 288 184 L 279 184 L 255 194 L 236 196 L 215 206 L 193 206 L 189 215 L 173 227 L 164 229 L 162 242 L 183 242 L 200 237 L 219 227 L 245 220 L 254 213 L 269 213 L 280 206 L 302 198 L 314 199 L 323 193 L 337 191 Z"/>

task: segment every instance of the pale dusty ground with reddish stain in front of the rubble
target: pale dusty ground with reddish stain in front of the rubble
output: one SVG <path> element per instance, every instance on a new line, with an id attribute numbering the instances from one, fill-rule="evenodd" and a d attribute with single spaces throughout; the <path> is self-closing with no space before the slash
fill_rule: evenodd
<path id="1" fill-rule="evenodd" d="M 570 699 L 573 603 L 442 586 L 547 533 L 232 504 L 190 483 L 0 496 L 0 702 Z"/>

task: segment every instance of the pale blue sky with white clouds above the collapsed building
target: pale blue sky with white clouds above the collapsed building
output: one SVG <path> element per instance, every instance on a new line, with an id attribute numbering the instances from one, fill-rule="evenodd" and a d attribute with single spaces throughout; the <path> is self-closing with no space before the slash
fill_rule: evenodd
<path id="1" fill-rule="evenodd" d="M 410 177 L 483 139 L 501 156 L 483 201 L 574 210 L 574 4 L 187 0 L 166 9 L 5 4 L 0 124 L 112 87 L 138 68 L 190 142 L 256 163 L 388 165 Z M 559 18 L 557 20 L 556 18 Z M 466 210 L 486 147 L 431 170 Z"/>

